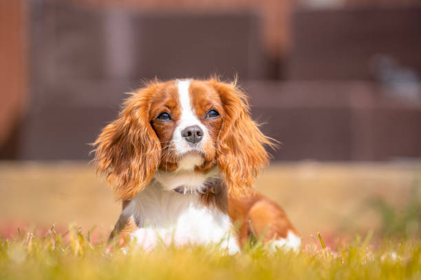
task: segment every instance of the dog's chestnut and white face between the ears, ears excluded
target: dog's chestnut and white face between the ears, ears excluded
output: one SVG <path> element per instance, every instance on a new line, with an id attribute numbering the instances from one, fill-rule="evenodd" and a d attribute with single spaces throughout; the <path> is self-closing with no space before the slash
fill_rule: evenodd
<path id="1" fill-rule="evenodd" d="M 155 91 L 150 103 L 149 121 L 161 145 L 160 170 L 206 171 L 215 166 L 225 112 L 213 86 L 195 80 L 169 82 Z"/>

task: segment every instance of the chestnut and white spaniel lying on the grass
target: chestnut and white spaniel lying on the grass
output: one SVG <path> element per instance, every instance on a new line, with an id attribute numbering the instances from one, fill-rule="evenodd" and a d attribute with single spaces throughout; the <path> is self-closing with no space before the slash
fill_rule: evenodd
<path id="1" fill-rule="evenodd" d="M 94 145 L 98 172 L 122 201 L 111 233 L 120 245 L 214 243 L 233 254 L 250 237 L 272 248 L 301 244 L 283 210 L 252 189 L 272 140 L 235 83 L 151 82 Z"/>

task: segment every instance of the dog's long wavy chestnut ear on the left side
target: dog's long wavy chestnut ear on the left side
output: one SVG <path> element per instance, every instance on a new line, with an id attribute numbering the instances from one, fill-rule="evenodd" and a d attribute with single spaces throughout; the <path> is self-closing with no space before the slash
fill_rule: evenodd
<path id="1" fill-rule="evenodd" d="M 156 85 L 133 93 L 116 121 L 94 142 L 97 172 L 105 174 L 116 198 L 131 200 L 157 170 L 161 145 L 149 123 L 149 99 Z"/>

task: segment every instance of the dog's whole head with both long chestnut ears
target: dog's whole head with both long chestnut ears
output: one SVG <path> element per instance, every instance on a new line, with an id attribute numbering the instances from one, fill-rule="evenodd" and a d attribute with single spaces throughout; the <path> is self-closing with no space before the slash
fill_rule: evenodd
<path id="1" fill-rule="evenodd" d="M 132 93 L 116 121 L 96 139 L 98 172 L 130 200 L 158 170 L 219 168 L 228 191 L 252 188 L 272 145 L 248 115 L 237 86 L 211 80 L 151 82 Z"/>

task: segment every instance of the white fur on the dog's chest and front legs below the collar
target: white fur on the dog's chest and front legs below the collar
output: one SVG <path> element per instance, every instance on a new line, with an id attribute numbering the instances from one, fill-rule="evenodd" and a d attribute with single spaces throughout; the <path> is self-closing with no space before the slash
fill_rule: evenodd
<path id="1" fill-rule="evenodd" d="M 159 240 L 169 243 L 170 239 L 181 245 L 220 244 L 230 254 L 239 251 L 226 213 L 204 206 L 197 193 L 177 194 L 164 189 L 157 180 L 137 194 L 122 214 L 138 222 L 140 229 L 131 236 L 145 250 L 151 250 Z"/>

